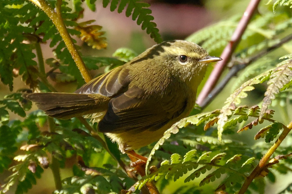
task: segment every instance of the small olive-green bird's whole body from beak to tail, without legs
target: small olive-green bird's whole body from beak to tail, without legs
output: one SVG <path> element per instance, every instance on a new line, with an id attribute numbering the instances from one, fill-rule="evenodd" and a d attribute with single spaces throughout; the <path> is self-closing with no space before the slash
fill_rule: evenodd
<path id="1" fill-rule="evenodd" d="M 210 57 L 200 46 L 166 41 L 103 74 L 74 93 L 33 93 L 26 97 L 51 117 L 90 115 L 98 130 L 119 144 L 121 152 L 162 137 L 186 117 Z"/>

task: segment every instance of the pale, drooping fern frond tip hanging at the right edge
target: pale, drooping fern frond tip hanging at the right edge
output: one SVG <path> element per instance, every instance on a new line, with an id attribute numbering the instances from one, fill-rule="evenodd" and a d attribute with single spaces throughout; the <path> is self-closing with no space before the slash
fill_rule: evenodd
<path id="1" fill-rule="evenodd" d="M 292 76 L 292 54 L 281 57 L 280 59 L 288 58 L 277 65 L 270 75 L 270 80 L 267 82 L 269 85 L 265 92 L 263 104 L 260 112 L 260 119 L 267 110 L 268 106 L 275 99 L 275 95 L 280 92 L 282 88 L 286 88 L 286 84 L 290 82 L 289 77 Z"/>

